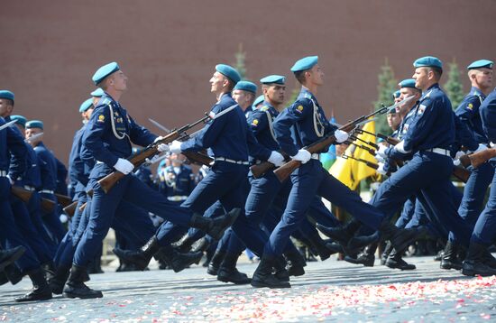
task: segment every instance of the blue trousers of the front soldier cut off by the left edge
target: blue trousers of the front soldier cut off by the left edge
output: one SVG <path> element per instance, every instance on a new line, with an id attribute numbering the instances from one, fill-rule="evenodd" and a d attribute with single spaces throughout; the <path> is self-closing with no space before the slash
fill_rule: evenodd
<path id="1" fill-rule="evenodd" d="M 9 196 L 10 182 L 6 177 L 0 177 L 0 245 L 5 249 L 11 249 L 18 245 L 23 245 L 26 248 L 23 256 L 15 262 L 21 272 L 25 273 L 39 268 L 40 262 L 15 226 L 14 213 L 8 200 Z"/>

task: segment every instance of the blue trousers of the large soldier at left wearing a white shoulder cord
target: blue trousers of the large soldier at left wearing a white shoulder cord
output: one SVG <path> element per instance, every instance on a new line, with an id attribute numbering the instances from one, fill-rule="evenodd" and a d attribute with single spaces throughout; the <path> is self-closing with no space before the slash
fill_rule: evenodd
<path id="1" fill-rule="evenodd" d="M 119 180 L 108 193 L 101 189 L 96 179 L 91 179 L 89 185 L 93 187 L 94 193 L 87 228 L 74 254 L 74 263 L 79 266 L 86 266 L 94 258 L 97 247 L 112 224 L 116 208 L 123 199 L 178 225 L 188 226 L 190 222 L 191 213 L 187 208 L 171 204 L 161 193 L 151 189 L 132 174 Z M 128 222 L 139 215 L 123 217 L 124 222 Z"/>

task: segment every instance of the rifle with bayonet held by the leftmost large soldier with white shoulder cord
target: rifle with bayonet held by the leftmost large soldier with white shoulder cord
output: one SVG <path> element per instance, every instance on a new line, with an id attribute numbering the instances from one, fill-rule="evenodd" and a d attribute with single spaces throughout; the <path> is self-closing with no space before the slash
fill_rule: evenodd
<path id="1" fill-rule="evenodd" d="M 205 116 L 202 117 L 201 119 L 195 121 L 192 124 L 188 125 L 183 125 L 177 130 L 173 130 L 170 134 L 167 134 L 161 140 L 156 141 L 155 143 L 150 144 L 146 148 L 144 148 L 141 152 L 138 152 L 134 154 L 133 156 L 129 157 L 127 160 L 131 162 L 134 165 L 134 168 L 140 167 L 143 162 L 146 162 L 146 160 L 151 159 L 155 154 L 157 154 L 158 147 L 161 143 L 172 143 L 174 140 L 177 140 L 180 136 L 184 135 L 189 129 L 193 128 L 196 125 L 200 124 L 205 124 L 209 120 L 215 120 L 216 118 L 220 117 L 221 115 L 225 115 L 227 112 L 231 111 L 238 105 L 233 105 L 225 110 L 217 113 L 217 114 L 207 114 L 205 113 Z M 120 171 L 113 171 L 110 174 L 106 175 L 101 180 L 98 180 L 98 184 L 100 184 L 100 187 L 107 193 L 110 189 L 112 189 L 115 185 L 115 183 L 118 180 L 121 180 L 124 178 L 124 173 Z M 91 195 L 92 191 L 89 191 L 88 194 Z"/>

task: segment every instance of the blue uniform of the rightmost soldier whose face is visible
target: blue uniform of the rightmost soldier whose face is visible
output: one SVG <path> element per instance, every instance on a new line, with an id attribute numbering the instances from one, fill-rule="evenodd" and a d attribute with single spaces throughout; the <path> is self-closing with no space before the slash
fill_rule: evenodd
<path id="1" fill-rule="evenodd" d="M 456 116 L 465 125 L 470 132 L 469 135 L 473 138 L 473 147 L 467 147 L 471 151 L 475 151 L 479 144 L 489 144 L 482 129 L 482 119 L 479 114 L 479 107 L 484 99 L 485 95 L 482 91 L 473 87 L 455 110 Z M 472 227 L 475 225 L 477 217 L 481 214 L 485 192 L 491 184 L 493 172 L 494 169 L 491 165 L 488 162 L 484 162 L 478 168 L 471 170 L 471 175 L 465 183 L 464 198 L 458 208 L 458 214 L 464 217 Z"/>

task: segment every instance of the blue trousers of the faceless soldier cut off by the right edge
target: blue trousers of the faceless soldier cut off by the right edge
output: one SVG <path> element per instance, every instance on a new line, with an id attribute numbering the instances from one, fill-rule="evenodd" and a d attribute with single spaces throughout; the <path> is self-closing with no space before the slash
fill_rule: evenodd
<path id="1" fill-rule="evenodd" d="M 486 207 L 473 227 L 471 242 L 480 245 L 491 245 L 496 236 L 496 162 L 489 162 L 492 167 L 491 191 Z"/>

